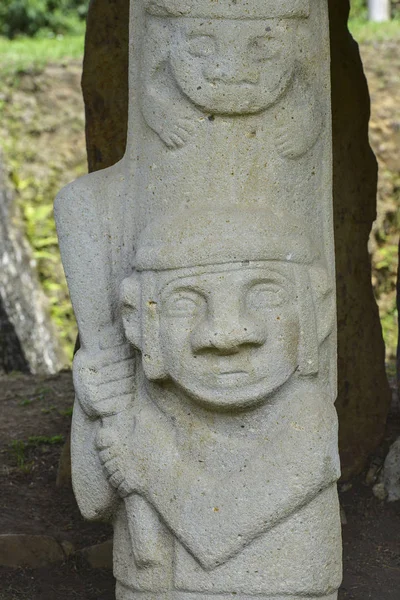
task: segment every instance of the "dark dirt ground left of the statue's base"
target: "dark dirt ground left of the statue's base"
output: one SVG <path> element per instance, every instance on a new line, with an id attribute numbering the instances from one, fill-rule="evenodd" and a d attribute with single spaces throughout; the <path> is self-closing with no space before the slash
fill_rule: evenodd
<path id="1" fill-rule="evenodd" d="M 111 537 L 109 526 L 83 521 L 70 487 L 56 486 L 73 398 L 68 371 L 0 378 L 1 534 L 47 535 L 76 550 Z M 0 568 L 0 600 L 108 600 L 113 585 L 110 572 L 74 557 L 51 568 Z"/>

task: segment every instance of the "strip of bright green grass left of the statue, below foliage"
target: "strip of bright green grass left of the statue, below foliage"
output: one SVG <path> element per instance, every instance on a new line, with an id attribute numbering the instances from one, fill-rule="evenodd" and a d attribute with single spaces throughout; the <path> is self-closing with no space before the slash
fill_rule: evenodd
<path id="1" fill-rule="evenodd" d="M 12 73 L 40 68 L 51 62 L 81 59 L 84 36 L 58 36 L 54 38 L 0 37 L 0 71 Z"/>

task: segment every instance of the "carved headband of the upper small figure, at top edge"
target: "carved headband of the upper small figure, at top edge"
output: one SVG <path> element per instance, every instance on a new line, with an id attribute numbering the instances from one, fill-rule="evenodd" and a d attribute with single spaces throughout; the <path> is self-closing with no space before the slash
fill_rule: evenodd
<path id="1" fill-rule="evenodd" d="M 310 0 L 145 0 L 145 7 L 163 17 L 290 19 L 308 17 Z"/>

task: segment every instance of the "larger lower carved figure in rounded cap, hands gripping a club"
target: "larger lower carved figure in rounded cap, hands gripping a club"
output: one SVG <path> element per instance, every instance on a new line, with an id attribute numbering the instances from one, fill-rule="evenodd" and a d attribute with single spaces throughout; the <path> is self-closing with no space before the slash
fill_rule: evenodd
<path id="1" fill-rule="evenodd" d="M 111 366 L 78 353 L 77 395 L 103 418 L 94 444 L 115 489 L 91 504 L 114 515 L 119 599 L 335 597 L 337 424 L 318 377 L 334 303 L 295 231 L 242 209 L 150 225 L 121 292 L 135 376 L 129 351 Z"/>

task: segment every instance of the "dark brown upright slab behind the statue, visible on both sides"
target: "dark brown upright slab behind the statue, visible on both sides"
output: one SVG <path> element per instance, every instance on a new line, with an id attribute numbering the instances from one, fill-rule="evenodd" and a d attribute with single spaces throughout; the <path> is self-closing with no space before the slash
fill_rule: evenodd
<path id="1" fill-rule="evenodd" d="M 128 113 L 128 0 L 92 0 L 83 73 L 91 171 L 120 160 Z M 369 95 L 347 30 L 348 0 L 330 1 L 334 211 L 338 289 L 340 446 L 343 474 L 362 469 L 380 442 L 390 403 L 384 345 L 367 250 L 377 163 L 368 143 Z"/>

